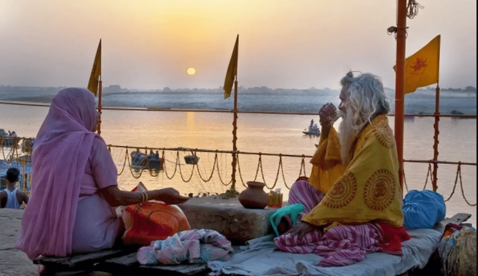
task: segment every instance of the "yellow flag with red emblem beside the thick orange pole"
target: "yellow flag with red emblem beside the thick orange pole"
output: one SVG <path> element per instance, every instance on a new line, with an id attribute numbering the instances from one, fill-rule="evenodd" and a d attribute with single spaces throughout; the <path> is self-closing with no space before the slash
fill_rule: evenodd
<path id="1" fill-rule="evenodd" d="M 440 35 L 432 39 L 417 53 L 405 59 L 404 94 L 415 92 L 419 87 L 437 83 L 439 68 Z"/>

